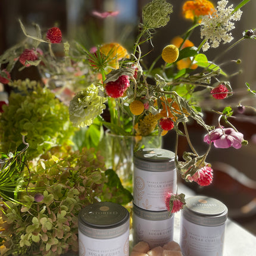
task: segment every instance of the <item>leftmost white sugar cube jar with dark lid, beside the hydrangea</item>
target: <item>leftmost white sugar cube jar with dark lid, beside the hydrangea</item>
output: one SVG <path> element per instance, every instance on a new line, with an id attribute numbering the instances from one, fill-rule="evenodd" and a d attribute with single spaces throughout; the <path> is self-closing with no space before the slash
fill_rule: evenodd
<path id="1" fill-rule="evenodd" d="M 79 213 L 79 256 L 129 256 L 129 224 L 121 205 L 87 205 Z"/>

